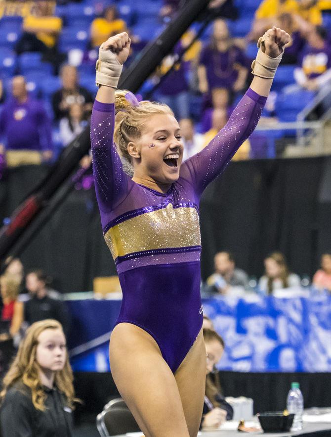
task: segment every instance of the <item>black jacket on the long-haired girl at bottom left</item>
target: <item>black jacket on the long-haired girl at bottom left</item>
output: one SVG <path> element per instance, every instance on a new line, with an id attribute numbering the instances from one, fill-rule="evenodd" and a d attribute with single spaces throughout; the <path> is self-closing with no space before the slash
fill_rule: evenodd
<path id="1" fill-rule="evenodd" d="M 32 403 L 31 390 L 16 383 L 0 408 L 2 437 L 72 437 L 73 420 L 65 396 L 57 388 L 44 388 L 45 411 Z"/>

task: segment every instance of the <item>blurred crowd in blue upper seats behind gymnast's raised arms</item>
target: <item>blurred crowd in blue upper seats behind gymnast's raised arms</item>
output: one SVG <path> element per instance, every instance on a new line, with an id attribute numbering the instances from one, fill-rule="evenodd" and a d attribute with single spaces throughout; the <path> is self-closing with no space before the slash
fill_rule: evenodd
<path id="1" fill-rule="evenodd" d="M 127 31 L 132 60 L 184 3 L 38 0 L 17 11 L 23 18 L 3 10 L 0 143 L 2 152 L 13 152 L 8 165 L 55 159 L 88 123 L 98 46 Z M 226 123 L 249 85 L 256 40 L 273 25 L 289 32 L 291 42 L 263 116 L 295 120 L 316 93 L 331 86 L 331 1 L 214 0 L 212 5 L 215 19 L 202 36 L 195 40 L 199 26 L 192 26 L 138 93 L 168 104 L 182 121 L 190 137 L 184 141 L 186 158 Z M 330 107 L 329 95 L 319 114 Z M 255 156 L 247 141 L 235 159 Z"/>

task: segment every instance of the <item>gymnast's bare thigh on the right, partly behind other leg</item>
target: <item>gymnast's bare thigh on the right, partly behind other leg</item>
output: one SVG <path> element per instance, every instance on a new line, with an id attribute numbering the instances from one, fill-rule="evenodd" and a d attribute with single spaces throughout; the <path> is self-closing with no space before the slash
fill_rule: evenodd
<path id="1" fill-rule="evenodd" d="M 202 330 L 175 372 L 190 437 L 199 431 L 204 408 L 206 384 L 206 348 Z"/>

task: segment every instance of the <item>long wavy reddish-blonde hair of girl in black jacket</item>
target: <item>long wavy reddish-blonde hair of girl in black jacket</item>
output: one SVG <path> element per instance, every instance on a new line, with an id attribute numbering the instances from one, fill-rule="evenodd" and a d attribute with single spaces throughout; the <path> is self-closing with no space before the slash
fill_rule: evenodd
<path id="1" fill-rule="evenodd" d="M 39 344 L 38 338 L 46 329 L 60 329 L 62 325 L 53 319 L 35 322 L 27 329 L 25 338 L 21 341 L 17 355 L 11 364 L 7 374 L 3 378 L 3 389 L 0 392 L 0 399 L 3 400 L 7 390 L 17 382 L 22 382 L 31 389 L 32 402 L 37 410 L 45 411 L 46 394 L 42 388 L 39 370 L 40 366 L 36 360 L 36 350 Z M 62 370 L 55 372 L 54 383 L 65 395 L 68 406 L 73 408 L 75 391 L 73 386 L 73 372 L 69 364 L 68 354 Z"/>

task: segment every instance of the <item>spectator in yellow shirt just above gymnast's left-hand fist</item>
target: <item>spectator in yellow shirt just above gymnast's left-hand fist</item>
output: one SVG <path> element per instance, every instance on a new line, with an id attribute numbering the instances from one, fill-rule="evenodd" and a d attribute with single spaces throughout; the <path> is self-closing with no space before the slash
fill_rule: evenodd
<path id="1" fill-rule="evenodd" d="M 117 7 L 108 6 L 104 10 L 103 17 L 94 18 L 91 23 L 91 46 L 99 47 L 108 38 L 126 30 L 126 23 L 119 18 Z"/>

